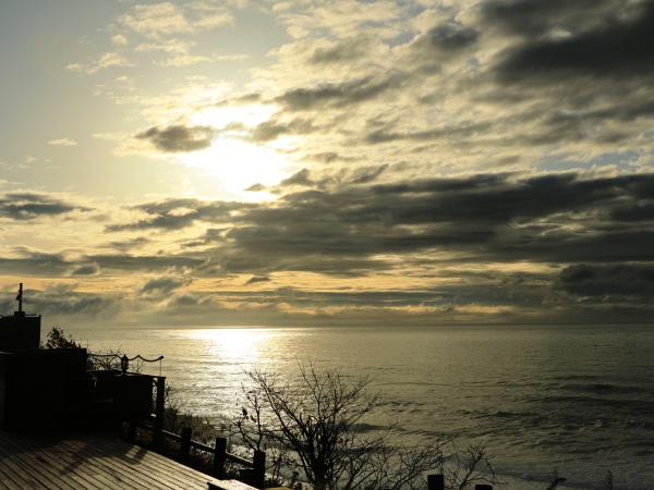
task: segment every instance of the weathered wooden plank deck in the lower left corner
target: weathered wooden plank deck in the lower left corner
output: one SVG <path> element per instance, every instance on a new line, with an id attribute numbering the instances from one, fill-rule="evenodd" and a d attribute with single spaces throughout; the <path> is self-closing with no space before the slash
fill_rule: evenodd
<path id="1" fill-rule="evenodd" d="M 184 489 L 230 483 L 104 432 L 0 430 L 0 489 Z"/>

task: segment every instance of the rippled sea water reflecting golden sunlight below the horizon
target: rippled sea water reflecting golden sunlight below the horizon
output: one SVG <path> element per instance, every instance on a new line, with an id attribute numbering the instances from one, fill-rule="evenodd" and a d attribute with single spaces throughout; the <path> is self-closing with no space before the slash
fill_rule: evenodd
<path id="1" fill-rule="evenodd" d="M 654 326 L 449 326 L 65 331 L 92 352 L 164 355 L 161 373 L 195 415 L 241 411 L 255 366 L 299 364 L 370 377 L 407 443 L 483 440 L 502 488 L 654 489 Z M 560 487 L 561 488 L 561 487 Z"/>

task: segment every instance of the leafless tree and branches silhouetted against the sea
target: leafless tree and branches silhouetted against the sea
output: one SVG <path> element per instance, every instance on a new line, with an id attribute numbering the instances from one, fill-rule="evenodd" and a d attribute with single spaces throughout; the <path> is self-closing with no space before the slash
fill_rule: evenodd
<path id="1" fill-rule="evenodd" d="M 250 371 L 254 387 L 244 387 L 245 404 L 233 420 L 243 444 L 267 451 L 275 475 L 292 474 L 291 482 L 302 475 L 314 490 L 424 489 L 426 471 L 446 475 L 449 489 L 497 482 L 481 444 L 459 455 L 449 436 L 404 446 L 392 425 L 365 430 L 364 419 L 385 405 L 368 391 L 370 378 L 299 368 L 294 381 Z"/>

